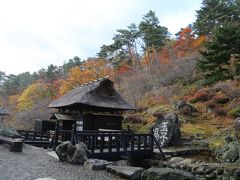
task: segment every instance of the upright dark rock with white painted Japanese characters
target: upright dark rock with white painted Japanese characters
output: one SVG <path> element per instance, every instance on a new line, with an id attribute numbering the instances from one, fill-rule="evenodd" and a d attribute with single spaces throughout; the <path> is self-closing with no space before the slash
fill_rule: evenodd
<path id="1" fill-rule="evenodd" d="M 179 145 L 181 132 L 177 114 L 170 113 L 158 119 L 153 128 L 153 134 L 162 147 Z"/>

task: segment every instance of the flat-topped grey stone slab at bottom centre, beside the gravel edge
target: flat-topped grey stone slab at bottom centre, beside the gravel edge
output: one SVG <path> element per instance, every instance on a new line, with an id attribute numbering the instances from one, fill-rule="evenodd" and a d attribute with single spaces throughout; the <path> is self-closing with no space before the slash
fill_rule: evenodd
<path id="1" fill-rule="evenodd" d="M 107 172 L 116 174 L 122 178 L 139 180 L 141 179 L 141 173 L 144 171 L 141 167 L 129 167 L 129 166 L 106 166 Z"/>

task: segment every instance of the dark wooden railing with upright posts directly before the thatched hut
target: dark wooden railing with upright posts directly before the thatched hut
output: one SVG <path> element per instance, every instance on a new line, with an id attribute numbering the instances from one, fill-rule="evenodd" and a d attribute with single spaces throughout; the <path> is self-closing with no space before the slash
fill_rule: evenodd
<path id="1" fill-rule="evenodd" d="M 82 131 L 74 133 L 74 143 L 83 142 L 91 154 L 120 151 L 153 151 L 151 134 L 133 134 L 119 131 Z"/>

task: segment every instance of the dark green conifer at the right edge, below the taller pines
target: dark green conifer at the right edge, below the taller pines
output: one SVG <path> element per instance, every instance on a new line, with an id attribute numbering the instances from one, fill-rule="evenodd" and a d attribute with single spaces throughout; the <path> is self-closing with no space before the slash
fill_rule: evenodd
<path id="1" fill-rule="evenodd" d="M 206 78 L 218 81 L 240 74 L 240 26 L 225 23 L 214 31 L 204 48 L 198 66 Z"/>

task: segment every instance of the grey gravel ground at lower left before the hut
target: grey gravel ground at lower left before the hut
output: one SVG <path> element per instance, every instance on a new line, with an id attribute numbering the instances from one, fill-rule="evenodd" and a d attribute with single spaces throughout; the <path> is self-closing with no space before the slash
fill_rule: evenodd
<path id="1" fill-rule="evenodd" d="M 106 171 L 91 171 L 83 166 L 61 163 L 47 155 L 48 150 L 24 145 L 22 153 L 9 152 L 0 145 L 0 180 L 107 180 L 119 179 Z"/>

